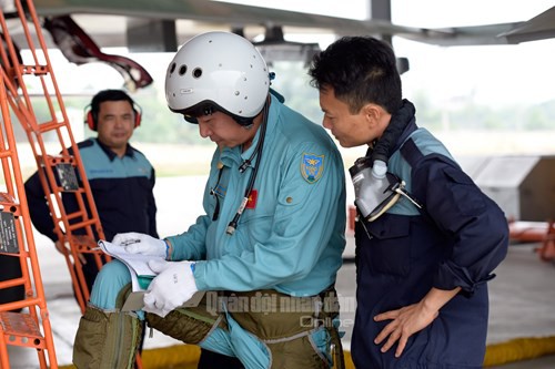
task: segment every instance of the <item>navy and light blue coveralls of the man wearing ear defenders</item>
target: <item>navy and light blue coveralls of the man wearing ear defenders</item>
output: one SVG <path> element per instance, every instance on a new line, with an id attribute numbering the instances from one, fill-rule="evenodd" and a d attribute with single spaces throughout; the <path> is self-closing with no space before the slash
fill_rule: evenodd
<path id="1" fill-rule="evenodd" d="M 115 234 L 125 232 L 158 238 L 155 175 L 147 157 L 129 144 L 125 155 L 118 157 L 97 139 L 80 142 L 78 147 L 105 238 L 111 240 Z M 26 182 L 26 194 L 34 227 L 56 242 L 58 236 L 38 173 Z M 63 194 L 63 203 L 68 213 L 78 209 L 72 193 Z M 83 273 L 91 290 L 98 274 L 92 258 L 83 265 Z"/>

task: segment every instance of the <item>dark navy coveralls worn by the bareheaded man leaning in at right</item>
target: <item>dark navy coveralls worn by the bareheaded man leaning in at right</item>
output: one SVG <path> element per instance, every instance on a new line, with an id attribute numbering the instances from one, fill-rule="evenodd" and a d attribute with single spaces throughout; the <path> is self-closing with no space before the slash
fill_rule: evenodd
<path id="1" fill-rule="evenodd" d="M 447 150 L 410 120 L 389 161 L 422 205 L 401 199 L 374 222 L 357 221 L 357 309 L 351 342 L 356 368 L 482 368 L 488 319 L 486 281 L 503 260 L 508 226 L 501 208 Z M 407 121 L 408 122 L 408 121 Z M 414 334 L 400 358 L 373 340 L 391 321 L 380 312 L 418 303 L 432 288 L 462 291 Z"/>

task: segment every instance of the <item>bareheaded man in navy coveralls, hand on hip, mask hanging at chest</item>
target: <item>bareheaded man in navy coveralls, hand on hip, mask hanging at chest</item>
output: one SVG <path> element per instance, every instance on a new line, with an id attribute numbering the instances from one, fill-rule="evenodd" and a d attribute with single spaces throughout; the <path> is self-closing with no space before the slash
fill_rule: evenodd
<path id="1" fill-rule="evenodd" d="M 387 43 L 342 38 L 314 57 L 309 74 L 324 127 L 343 147 L 369 146 L 350 170 L 359 209 L 355 366 L 482 368 L 486 283 L 508 245 L 503 212 L 416 126 Z"/>

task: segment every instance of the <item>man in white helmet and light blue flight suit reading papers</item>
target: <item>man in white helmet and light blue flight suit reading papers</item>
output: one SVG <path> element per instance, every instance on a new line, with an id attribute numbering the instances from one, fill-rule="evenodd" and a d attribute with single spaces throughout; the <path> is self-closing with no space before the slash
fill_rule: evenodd
<path id="1" fill-rule="evenodd" d="M 102 268 L 75 337 L 78 368 L 130 368 L 141 319 L 245 368 L 331 367 L 332 346 L 341 352 L 343 163 L 320 125 L 270 92 L 264 60 L 240 35 L 208 32 L 178 51 L 169 107 L 218 145 L 205 214 L 165 239 L 114 237 L 130 253 L 158 256 L 149 263 L 158 276 L 141 310 L 121 311 L 128 268 L 118 260 Z M 183 307 L 196 291 L 200 304 Z"/>

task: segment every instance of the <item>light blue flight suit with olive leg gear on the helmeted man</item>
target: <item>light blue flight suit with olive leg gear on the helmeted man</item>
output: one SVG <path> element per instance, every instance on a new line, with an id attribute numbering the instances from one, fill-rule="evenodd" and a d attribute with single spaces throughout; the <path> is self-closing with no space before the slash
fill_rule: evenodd
<path id="1" fill-rule="evenodd" d="M 100 271 L 81 319 L 74 362 L 104 359 L 101 345 L 91 349 L 92 344 L 103 340 L 93 342 L 90 337 L 97 334 L 123 337 L 125 331 L 110 324 L 112 319 L 124 321 L 122 327 L 129 327 L 131 332 L 137 327 L 135 319 L 147 318 L 151 327 L 167 335 L 204 349 L 236 356 L 248 368 L 281 368 L 283 365 L 321 368 L 331 365 L 331 340 L 336 335 L 330 329 L 329 320 L 320 325 L 320 320 L 313 318 L 333 318 L 336 311 L 332 306 L 317 305 L 317 298 L 324 297 L 325 301 L 331 296 L 327 294 L 333 289 L 345 247 L 343 161 L 322 126 L 274 96 L 269 107 L 265 134 L 262 134 L 263 130 L 263 126 L 259 127 L 245 152 L 239 146 L 216 148 L 204 191 L 205 214 L 198 217 L 185 233 L 167 240 L 172 246 L 172 260 L 198 260 L 194 279 L 199 290 L 209 291 L 206 296 L 220 291 L 239 294 L 254 301 L 259 298 L 256 293 L 263 291 L 264 296 L 270 294 L 275 298 L 276 310 L 270 309 L 266 315 L 266 310 L 259 314 L 250 307 L 246 311 L 230 307 L 218 319 L 215 311 L 204 308 L 192 315 L 186 308 L 178 308 L 165 318 L 144 315 L 143 311 L 124 314 L 119 309 L 118 296 L 131 279 L 127 267 L 112 260 Z M 262 152 L 253 155 L 261 140 Z M 235 232 L 230 235 L 228 226 L 245 201 L 245 191 L 255 168 L 253 191 Z M 310 305 L 303 305 L 299 310 L 292 305 L 291 311 L 283 310 L 280 304 L 290 300 Z M 323 310 L 326 310 L 324 315 Z M 201 314 L 205 317 L 194 318 Z M 105 321 L 105 326 L 98 324 L 98 317 Z M 310 318 L 310 322 L 304 324 L 300 317 Z M 215 320 L 209 329 L 205 322 L 210 318 Z M 220 321 L 225 321 L 229 329 L 221 328 Z M 119 352 L 119 357 L 129 355 Z"/>

